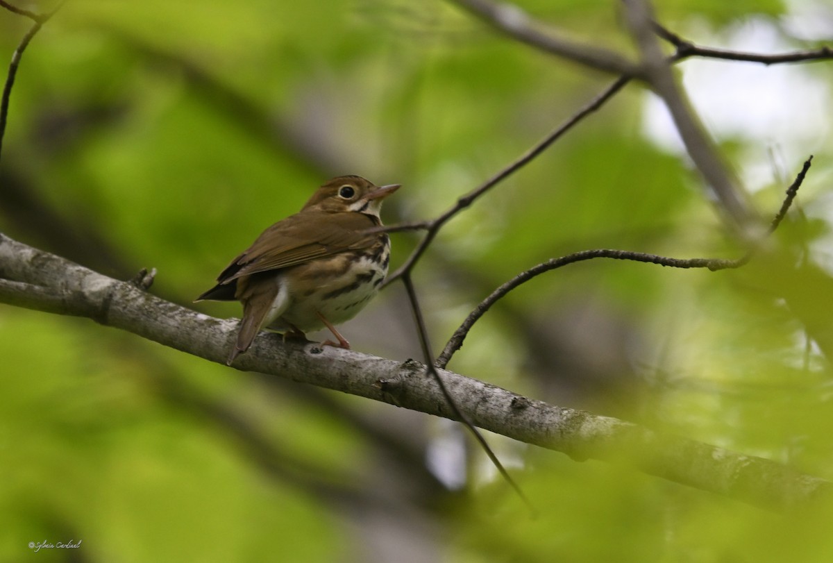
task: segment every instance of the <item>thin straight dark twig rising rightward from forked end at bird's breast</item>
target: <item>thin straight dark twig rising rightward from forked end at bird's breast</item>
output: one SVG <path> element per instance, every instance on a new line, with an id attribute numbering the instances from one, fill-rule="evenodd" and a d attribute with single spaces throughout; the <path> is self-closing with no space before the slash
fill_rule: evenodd
<path id="1" fill-rule="evenodd" d="M 510 177 L 512 174 L 520 170 L 522 167 L 526 166 L 529 162 L 531 162 L 535 157 L 544 152 L 547 147 L 549 147 L 553 142 L 556 142 L 560 137 L 562 137 L 566 132 L 570 131 L 572 127 L 575 127 L 576 124 L 581 122 L 582 119 L 590 115 L 592 112 L 595 112 L 601 106 L 605 104 L 608 100 L 611 99 L 616 92 L 619 92 L 622 87 L 624 87 L 630 78 L 620 77 L 615 82 L 613 82 L 610 86 L 606 87 L 602 92 L 600 92 L 596 97 L 594 97 L 590 102 L 588 102 L 584 107 L 582 107 L 578 112 L 574 113 L 571 117 L 569 117 L 566 122 L 561 123 L 554 131 L 552 131 L 549 135 L 544 137 L 541 142 L 538 142 L 534 147 L 531 147 L 528 151 L 518 157 L 515 162 L 511 162 L 511 164 L 507 167 L 504 167 L 500 172 L 497 172 L 493 177 L 483 182 L 480 186 L 476 187 L 475 189 L 471 190 L 471 192 L 466 193 L 466 195 L 460 197 L 456 203 L 451 206 L 446 212 L 443 212 L 439 217 L 432 219 L 431 221 L 426 222 L 415 222 L 415 223 L 408 223 L 402 225 L 392 225 L 391 227 L 381 227 L 379 230 L 386 231 L 386 232 L 399 232 L 399 231 L 415 231 L 415 230 L 425 230 L 426 236 L 421 240 L 419 245 L 416 249 L 411 253 L 411 255 L 407 258 L 404 264 L 396 272 L 393 272 L 390 276 L 387 277 L 385 280 L 385 286 L 392 283 L 392 281 L 397 280 L 398 278 L 406 275 L 408 272 L 411 272 L 413 268 L 416 266 L 416 262 L 420 259 L 422 254 L 424 254 L 428 248 L 428 245 L 431 244 L 431 241 L 434 240 L 436 237 L 437 232 L 440 231 L 441 227 L 446 224 L 452 217 L 455 217 L 457 213 L 461 212 L 462 210 L 469 207 L 478 197 L 481 197 L 484 193 L 488 192 L 492 187 L 495 187 L 498 183 L 506 180 L 507 177 Z"/>

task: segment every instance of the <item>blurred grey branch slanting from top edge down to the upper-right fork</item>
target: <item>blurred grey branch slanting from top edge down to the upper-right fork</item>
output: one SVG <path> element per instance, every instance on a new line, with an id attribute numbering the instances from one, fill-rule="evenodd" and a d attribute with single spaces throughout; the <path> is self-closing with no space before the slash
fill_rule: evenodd
<path id="1" fill-rule="evenodd" d="M 471 12 L 482 22 L 497 31 L 532 45 L 543 52 L 564 57 L 586 67 L 603 72 L 640 76 L 641 69 L 618 53 L 586 43 L 571 42 L 556 37 L 551 30 L 544 30 L 526 12 L 513 4 L 491 2 L 491 0 L 450 0 L 451 3 Z"/>

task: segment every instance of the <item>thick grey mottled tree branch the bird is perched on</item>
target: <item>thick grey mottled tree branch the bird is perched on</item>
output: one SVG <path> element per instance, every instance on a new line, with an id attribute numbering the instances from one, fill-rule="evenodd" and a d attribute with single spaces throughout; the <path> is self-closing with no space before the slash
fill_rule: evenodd
<path id="1" fill-rule="evenodd" d="M 237 330 L 47 252 L 0 235 L 0 301 L 20 302 L 22 284 L 39 286 L 25 306 L 86 316 L 164 346 L 222 364 Z M 262 333 L 237 368 L 454 419 L 425 366 L 332 347 L 284 344 Z M 578 459 L 625 461 L 641 471 L 756 506 L 785 509 L 830 496 L 833 483 L 760 457 L 743 456 L 606 416 L 548 405 L 451 371 L 437 370 L 457 406 L 483 429 Z"/>

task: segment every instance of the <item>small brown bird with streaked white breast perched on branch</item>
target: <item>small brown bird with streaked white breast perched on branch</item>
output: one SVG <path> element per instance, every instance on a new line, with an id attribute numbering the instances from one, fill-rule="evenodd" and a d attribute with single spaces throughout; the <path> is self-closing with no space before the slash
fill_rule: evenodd
<path id="1" fill-rule="evenodd" d="M 300 212 L 262 232 L 196 301 L 238 300 L 243 318 L 227 364 L 247 351 L 263 327 L 304 337 L 327 326 L 337 342 L 342 323 L 367 305 L 387 275 L 391 242 L 380 227 L 382 200 L 399 184 L 377 187 L 358 176 L 333 178 Z"/>

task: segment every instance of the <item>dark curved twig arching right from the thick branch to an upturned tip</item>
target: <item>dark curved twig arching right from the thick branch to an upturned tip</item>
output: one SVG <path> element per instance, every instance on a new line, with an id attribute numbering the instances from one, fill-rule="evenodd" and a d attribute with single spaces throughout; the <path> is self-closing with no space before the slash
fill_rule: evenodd
<path id="1" fill-rule="evenodd" d="M 792 182 L 791 186 L 786 191 L 786 197 L 784 202 L 781 203 L 781 209 L 776 214 L 776 217 L 772 220 L 769 233 L 774 232 L 776 228 L 781 224 L 781 221 L 786 216 L 786 213 L 790 210 L 793 200 L 796 198 L 796 194 L 798 193 L 798 188 L 801 187 L 801 184 L 804 182 L 804 178 L 806 177 L 807 171 L 810 170 L 811 162 L 813 157 L 811 156 L 804 162 L 804 165 L 801 167 L 801 172 L 798 173 L 796 176 L 796 180 Z M 469 331 L 471 331 L 471 327 L 480 320 L 481 316 L 486 314 L 492 305 L 494 305 L 497 301 L 501 300 L 506 294 L 510 291 L 515 289 L 518 286 L 530 281 L 531 279 L 540 276 L 545 272 L 550 272 L 551 270 L 555 270 L 556 268 L 564 267 L 567 264 L 574 264 L 576 262 L 583 262 L 585 260 L 592 260 L 594 258 L 611 258 L 613 260 L 630 260 L 631 262 L 647 262 L 651 264 L 659 264 L 660 266 L 666 267 L 675 267 L 675 268 L 708 268 L 711 272 L 716 272 L 718 270 L 727 270 L 738 268 L 744 266 L 747 262 L 749 262 L 754 255 L 755 249 L 750 252 L 747 252 L 745 256 L 741 258 L 736 258 L 734 260 L 731 259 L 724 259 L 724 258 L 671 258 L 671 257 L 661 257 L 656 254 L 646 254 L 645 252 L 630 252 L 624 250 L 611 250 L 611 249 L 596 249 L 596 250 L 586 250 L 581 252 L 574 252 L 572 254 L 568 254 L 563 257 L 552 258 L 546 262 L 538 264 L 535 267 L 531 267 L 530 269 L 526 270 L 525 272 L 521 272 L 516 277 L 511 278 L 511 280 L 506 281 L 501 286 L 497 287 L 495 291 L 492 291 L 489 296 L 486 297 L 483 301 L 477 304 L 471 313 L 466 316 L 466 320 L 462 322 L 462 324 L 454 331 L 454 334 L 451 335 L 451 338 L 446 342 L 446 347 L 443 348 L 442 353 L 440 356 L 437 357 L 436 366 L 437 367 L 446 367 L 448 362 L 451 361 L 451 356 L 454 356 L 455 352 L 460 350 L 463 345 L 463 341 L 466 340 L 466 336 L 468 336 Z"/>

